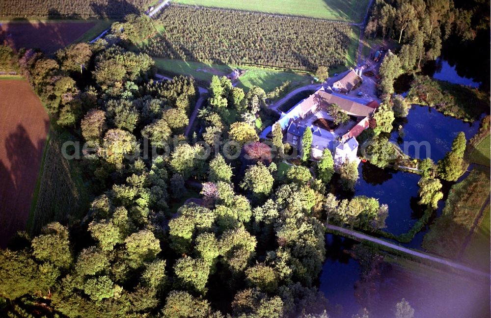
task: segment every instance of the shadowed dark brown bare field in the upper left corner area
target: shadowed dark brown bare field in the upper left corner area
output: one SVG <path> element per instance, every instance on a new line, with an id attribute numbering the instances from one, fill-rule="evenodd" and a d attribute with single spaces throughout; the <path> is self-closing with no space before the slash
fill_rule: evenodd
<path id="1" fill-rule="evenodd" d="M 93 27 L 90 22 L 9 22 L 0 24 L 0 44 L 55 53 Z"/>

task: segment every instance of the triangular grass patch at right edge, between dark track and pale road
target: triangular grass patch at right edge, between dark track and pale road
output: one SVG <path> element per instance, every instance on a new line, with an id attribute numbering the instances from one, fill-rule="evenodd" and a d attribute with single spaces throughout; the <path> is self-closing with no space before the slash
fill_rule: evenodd
<path id="1" fill-rule="evenodd" d="M 486 270 L 490 268 L 490 223 L 490 206 L 488 205 L 463 255 L 464 261 Z"/>

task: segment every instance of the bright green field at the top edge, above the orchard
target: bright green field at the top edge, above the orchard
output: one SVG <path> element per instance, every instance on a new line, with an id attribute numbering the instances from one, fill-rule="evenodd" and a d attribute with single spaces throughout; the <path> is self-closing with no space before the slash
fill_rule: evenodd
<path id="1" fill-rule="evenodd" d="M 368 0 L 175 0 L 175 3 L 361 22 Z"/>

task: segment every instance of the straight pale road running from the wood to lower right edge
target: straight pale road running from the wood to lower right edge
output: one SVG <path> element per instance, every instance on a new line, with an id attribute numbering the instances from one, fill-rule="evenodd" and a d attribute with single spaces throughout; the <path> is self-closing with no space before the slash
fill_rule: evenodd
<path id="1" fill-rule="evenodd" d="M 462 265 L 462 264 L 459 264 L 459 263 L 455 263 L 455 262 L 452 262 L 452 261 L 449 261 L 449 260 L 446 260 L 446 259 L 443 259 L 443 258 L 439 258 L 439 257 L 433 256 L 433 255 L 430 255 L 430 254 L 417 252 L 417 251 L 411 250 L 409 248 L 405 248 L 405 247 L 402 247 L 402 246 L 399 246 L 399 245 L 396 245 L 396 244 L 392 244 L 392 243 L 389 243 L 389 242 L 387 242 L 385 240 L 382 240 L 380 238 L 374 238 L 374 237 L 371 237 L 369 235 L 366 235 L 366 234 L 363 234 L 363 233 L 360 233 L 360 232 L 356 232 L 356 231 L 353 231 L 353 230 L 344 229 L 344 228 L 341 228 L 339 226 L 335 226 L 335 225 L 331 225 L 331 224 L 328 224 L 327 225 L 327 228 L 330 229 L 330 230 L 338 231 L 338 232 L 340 232 L 342 234 L 345 234 L 345 235 L 353 236 L 353 237 L 358 238 L 360 240 L 371 241 L 371 242 L 374 242 L 374 243 L 377 243 L 377 244 L 380 244 L 380 245 L 383 245 L 383 246 L 386 246 L 386 247 L 395 249 L 397 251 L 400 251 L 400 252 L 403 252 L 403 253 L 406 253 L 406 254 L 409 254 L 409 255 L 418 257 L 418 258 L 422 258 L 422 259 L 433 261 L 433 262 L 436 262 L 436 263 L 439 263 L 439 264 L 443 264 L 443 265 L 447 265 L 447 266 L 450 266 L 450 267 L 454 267 L 454 268 L 457 268 L 457 269 L 460 269 L 460 270 L 464 270 L 466 272 L 473 273 L 473 274 L 476 274 L 476 275 L 490 277 L 490 274 L 489 273 L 485 273 L 485 272 L 482 272 L 480 270 L 476 270 L 476 269 L 467 267 L 465 265 Z"/>

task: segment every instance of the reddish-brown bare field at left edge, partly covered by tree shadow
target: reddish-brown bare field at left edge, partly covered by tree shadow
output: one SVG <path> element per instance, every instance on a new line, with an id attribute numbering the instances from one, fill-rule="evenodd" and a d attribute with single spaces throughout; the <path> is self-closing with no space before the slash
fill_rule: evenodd
<path id="1" fill-rule="evenodd" d="M 26 228 L 49 126 L 27 80 L 0 79 L 0 247 Z"/>

